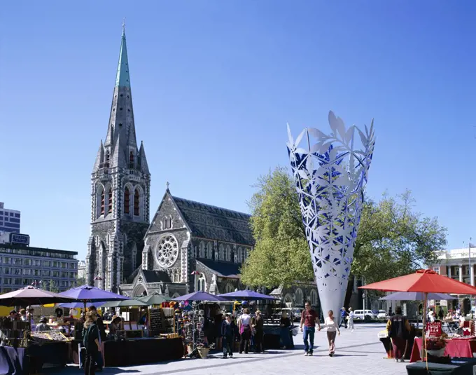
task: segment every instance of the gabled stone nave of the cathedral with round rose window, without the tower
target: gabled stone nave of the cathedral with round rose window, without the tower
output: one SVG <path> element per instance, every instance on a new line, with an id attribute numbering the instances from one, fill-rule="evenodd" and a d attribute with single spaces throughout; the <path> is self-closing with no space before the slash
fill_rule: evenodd
<path id="1" fill-rule="evenodd" d="M 158 292 L 170 297 L 195 291 L 211 294 L 244 289 L 240 268 L 253 250 L 251 216 L 172 196 L 165 192 L 146 233 L 141 266 L 120 286 L 127 296 Z M 258 288 L 265 293 L 265 288 Z M 276 288 L 293 306 L 318 306 L 314 283 Z"/>

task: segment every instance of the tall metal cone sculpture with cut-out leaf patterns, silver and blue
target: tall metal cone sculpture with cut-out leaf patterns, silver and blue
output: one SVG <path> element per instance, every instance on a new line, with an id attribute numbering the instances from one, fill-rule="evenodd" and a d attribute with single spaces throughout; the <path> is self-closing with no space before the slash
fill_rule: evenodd
<path id="1" fill-rule="evenodd" d="M 321 309 L 324 316 L 329 310 L 339 316 L 375 139 L 373 120 L 365 132 L 355 125 L 346 129 L 330 111 L 329 125 L 330 135 L 306 128 L 296 139 L 288 125 L 287 146 Z"/>

